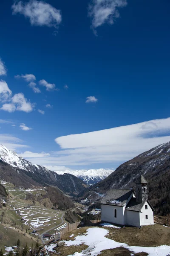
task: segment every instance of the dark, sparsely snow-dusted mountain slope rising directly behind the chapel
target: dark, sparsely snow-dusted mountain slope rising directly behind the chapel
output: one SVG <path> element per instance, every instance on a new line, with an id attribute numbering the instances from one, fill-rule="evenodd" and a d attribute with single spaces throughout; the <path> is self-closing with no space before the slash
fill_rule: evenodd
<path id="1" fill-rule="evenodd" d="M 120 165 L 105 180 L 92 186 L 83 198 L 100 200 L 110 189 L 135 189 L 137 177 L 148 181 L 148 196 L 156 212 L 170 214 L 170 142 L 161 144 Z"/>

